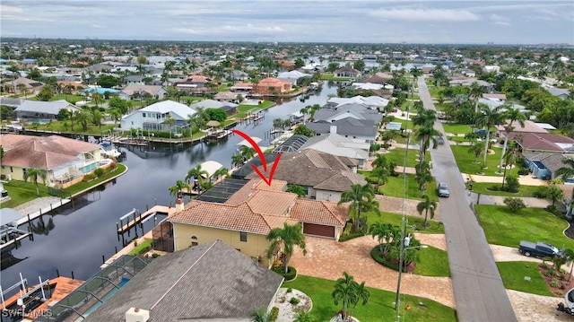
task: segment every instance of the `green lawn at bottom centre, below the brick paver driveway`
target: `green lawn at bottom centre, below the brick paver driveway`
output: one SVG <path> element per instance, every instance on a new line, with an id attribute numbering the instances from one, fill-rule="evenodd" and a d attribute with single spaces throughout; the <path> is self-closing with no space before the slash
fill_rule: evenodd
<path id="1" fill-rule="evenodd" d="M 342 268 L 343 276 L 343 268 Z M 361 283 L 362 281 L 357 281 Z M 283 287 L 291 287 L 309 295 L 313 300 L 311 317 L 315 321 L 328 321 L 335 317 L 336 312 L 342 309 L 341 302 L 335 305 L 331 293 L 334 290 L 334 281 L 322 278 L 299 275 L 294 281 L 284 282 Z M 367 285 L 369 286 L 369 285 Z M 353 316 L 361 321 L 394 321 L 396 310 L 393 303 L 396 299 L 396 292 L 387 292 L 369 288 L 370 298 L 365 306 L 361 303 L 353 311 Z M 448 308 L 434 300 L 428 300 L 410 295 L 401 295 L 401 306 L 407 304 L 411 309 L 401 310 L 401 318 L 404 321 L 456 321 L 454 309 Z M 418 303 L 424 303 L 424 307 Z"/>

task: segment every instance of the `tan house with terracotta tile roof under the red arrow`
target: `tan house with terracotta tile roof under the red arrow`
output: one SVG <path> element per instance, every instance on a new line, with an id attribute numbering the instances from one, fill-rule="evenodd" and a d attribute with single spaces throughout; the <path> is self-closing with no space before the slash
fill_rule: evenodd
<path id="1" fill-rule="evenodd" d="M 218 185 L 230 186 L 225 180 L 233 181 L 236 187 L 227 197 L 218 193 Z M 220 200 L 204 201 L 198 197 L 166 219 L 173 227 L 176 251 L 222 239 L 231 248 L 270 266 L 274 258 L 267 257 L 266 236 L 274 228 L 283 228 L 284 222 L 300 222 L 307 235 L 336 240 L 343 233 L 349 205 L 300 199 L 284 191 L 286 181 L 275 178 L 271 186 L 261 178 L 225 180 L 202 194 L 209 198 L 213 189 L 213 196 L 218 195 Z"/>

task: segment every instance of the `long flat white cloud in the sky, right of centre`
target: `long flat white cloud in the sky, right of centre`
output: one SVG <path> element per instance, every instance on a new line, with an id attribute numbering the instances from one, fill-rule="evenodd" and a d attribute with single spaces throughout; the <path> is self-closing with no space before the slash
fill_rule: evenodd
<path id="1" fill-rule="evenodd" d="M 399 7 L 379 9 L 369 13 L 387 21 L 414 22 L 475 22 L 481 17 L 467 10 Z"/>

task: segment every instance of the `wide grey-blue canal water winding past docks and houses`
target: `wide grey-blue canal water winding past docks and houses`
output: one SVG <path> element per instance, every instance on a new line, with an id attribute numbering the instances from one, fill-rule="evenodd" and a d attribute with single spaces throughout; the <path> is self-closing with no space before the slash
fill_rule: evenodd
<path id="1" fill-rule="evenodd" d="M 305 101 L 296 97 L 265 110 L 265 119 L 257 126 L 252 123 L 235 128 L 264 139 L 259 145 L 268 146 L 265 132 L 271 130 L 274 118 L 287 118 L 307 105 L 323 106 L 329 95 L 336 95 L 336 91 L 336 84 L 324 83 L 321 91 Z M 43 222 L 32 222 L 37 227 L 34 240 L 22 240 L 19 248 L 2 254 L 2 287 L 5 289 L 17 283 L 20 273 L 30 284 L 38 281 L 39 275 L 42 279 L 56 277 L 57 270 L 65 276 L 74 272 L 75 278 L 89 278 L 100 269 L 102 256 L 107 259 L 115 253 L 115 248 L 123 247 L 116 233 L 119 217 L 134 208 L 143 213 L 146 207 L 151 208 L 156 203 L 170 205 L 174 198 L 168 187 L 176 180 L 184 179 L 187 170 L 199 163 L 218 161 L 230 168 L 231 155 L 240 141 L 239 135 L 230 135 L 219 144 L 164 144 L 147 149 L 121 147 L 121 151 L 126 151 L 123 163 L 129 168 L 128 172 L 105 187 L 76 198 L 73 208 L 44 215 Z M 152 226 L 153 220 L 145 222 L 144 231 L 150 231 Z M 129 237 L 125 234 L 126 240 L 133 239 L 134 233 L 132 231 Z M 141 232 L 139 234 L 141 236 Z"/>

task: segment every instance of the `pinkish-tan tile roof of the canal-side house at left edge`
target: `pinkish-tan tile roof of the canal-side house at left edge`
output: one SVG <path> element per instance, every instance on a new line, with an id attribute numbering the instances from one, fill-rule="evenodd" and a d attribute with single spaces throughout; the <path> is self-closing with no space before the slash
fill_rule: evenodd
<path id="1" fill-rule="evenodd" d="M 22 136 L 13 137 L 13 136 Z M 78 155 L 100 149 L 100 145 L 63 136 L 2 135 L 6 149 L 2 164 L 50 170 L 68 162 L 78 161 Z"/>

